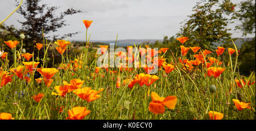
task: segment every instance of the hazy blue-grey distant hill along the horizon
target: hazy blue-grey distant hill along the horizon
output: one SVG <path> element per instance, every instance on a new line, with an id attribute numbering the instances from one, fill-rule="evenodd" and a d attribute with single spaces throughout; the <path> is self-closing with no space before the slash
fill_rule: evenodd
<path id="1" fill-rule="evenodd" d="M 249 41 L 253 38 L 251 37 L 246 37 L 246 38 L 238 38 L 236 41 L 234 41 L 234 43 L 237 45 L 238 48 L 241 48 L 242 44 L 245 41 Z M 160 42 L 162 42 L 163 40 L 160 39 L 125 39 L 125 40 L 117 40 L 117 45 L 120 47 L 127 47 L 129 45 L 138 45 L 141 44 L 145 41 L 149 42 L 149 43 L 154 43 L 156 40 L 159 40 Z M 84 41 L 84 40 L 75 40 L 75 41 Z M 115 43 L 115 40 L 90 40 L 92 42 L 100 42 L 100 43 Z M 220 46 L 222 43 L 215 43 L 217 46 Z"/>

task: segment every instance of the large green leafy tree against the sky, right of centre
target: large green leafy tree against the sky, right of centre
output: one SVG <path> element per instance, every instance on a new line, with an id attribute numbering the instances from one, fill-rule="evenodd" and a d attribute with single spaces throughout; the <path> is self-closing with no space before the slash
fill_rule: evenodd
<path id="1" fill-rule="evenodd" d="M 186 46 L 197 46 L 202 49 L 214 49 L 214 43 L 224 43 L 231 39 L 232 33 L 227 28 L 232 23 L 228 18 L 236 6 L 230 0 L 201 0 L 193 7 L 194 14 L 180 28 L 177 37 L 189 37 Z"/>

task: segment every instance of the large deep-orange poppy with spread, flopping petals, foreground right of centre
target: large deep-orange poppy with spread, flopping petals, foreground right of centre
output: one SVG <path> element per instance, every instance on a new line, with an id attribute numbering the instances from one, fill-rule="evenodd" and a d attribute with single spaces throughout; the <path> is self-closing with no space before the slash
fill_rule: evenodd
<path id="1" fill-rule="evenodd" d="M 151 102 L 148 106 L 148 111 L 158 115 L 164 113 L 166 106 L 168 109 L 174 109 L 177 103 L 176 96 L 167 96 L 166 98 L 160 97 L 156 92 L 151 92 Z"/>

